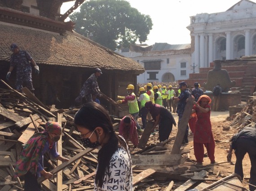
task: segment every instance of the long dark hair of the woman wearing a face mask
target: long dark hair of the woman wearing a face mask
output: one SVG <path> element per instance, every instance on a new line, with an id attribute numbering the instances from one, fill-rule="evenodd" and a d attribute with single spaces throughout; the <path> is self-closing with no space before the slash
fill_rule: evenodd
<path id="1" fill-rule="evenodd" d="M 118 149 L 120 144 L 124 149 L 127 150 L 127 144 L 119 137 L 114 129 L 111 122 L 110 116 L 107 111 L 96 102 L 88 102 L 75 114 L 74 119 L 75 125 L 82 126 L 84 128 L 93 131 L 96 127 L 102 127 L 103 131 L 109 133 L 108 142 L 102 146 L 98 153 L 98 169 L 95 176 L 95 183 L 97 186 L 102 187 L 105 172 L 109 171 L 109 163 L 112 155 Z"/>

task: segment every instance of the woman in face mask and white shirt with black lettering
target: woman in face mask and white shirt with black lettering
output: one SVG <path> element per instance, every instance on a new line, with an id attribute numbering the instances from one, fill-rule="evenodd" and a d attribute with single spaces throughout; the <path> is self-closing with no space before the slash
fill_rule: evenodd
<path id="1" fill-rule="evenodd" d="M 88 102 L 75 114 L 74 122 L 84 146 L 101 146 L 94 191 L 132 191 L 130 152 L 124 138 L 115 133 L 107 111 L 95 102 Z"/>

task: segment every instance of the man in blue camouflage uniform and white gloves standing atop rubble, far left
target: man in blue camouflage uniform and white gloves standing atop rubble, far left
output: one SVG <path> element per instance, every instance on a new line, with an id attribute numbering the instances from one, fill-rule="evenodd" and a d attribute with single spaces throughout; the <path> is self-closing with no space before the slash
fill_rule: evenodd
<path id="1" fill-rule="evenodd" d="M 10 59 L 10 68 L 9 72 L 6 75 L 6 80 L 9 81 L 11 72 L 16 68 L 16 82 L 15 88 L 20 90 L 23 88 L 22 85 L 26 86 L 32 93 L 34 92 L 34 87 L 32 85 L 32 69 L 30 62 L 35 68 L 35 73 L 39 74 L 39 67 L 35 64 L 35 61 L 32 59 L 31 55 L 27 51 L 20 50 L 17 43 L 13 43 L 10 47 L 13 54 Z"/>

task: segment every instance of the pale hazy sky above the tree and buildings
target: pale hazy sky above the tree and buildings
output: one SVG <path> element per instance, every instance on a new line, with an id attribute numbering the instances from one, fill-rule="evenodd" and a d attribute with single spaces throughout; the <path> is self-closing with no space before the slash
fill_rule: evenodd
<path id="1" fill-rule="evenodd" d="M 169 44 L 190 43 L 190 16 L 197 13 L 219 13 L 240 0 L 127 0 L 142 14 L 150 15 L 153 27 L 146 43 L 167 42 Z M 256 2 L 256 0 L 251 0 Z M 65 13 L 75 1 L 64 3 L 61 13 Z M 76 11 L 79 11 L 78 8 Z"/>

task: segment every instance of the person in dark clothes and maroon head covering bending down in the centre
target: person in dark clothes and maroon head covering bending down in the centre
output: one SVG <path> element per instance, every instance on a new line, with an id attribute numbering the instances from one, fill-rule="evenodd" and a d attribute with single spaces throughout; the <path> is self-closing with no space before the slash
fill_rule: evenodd
<path id="1" fill-rule="evenodd" d="M 159 124 L 159 140 L 160 142 L 167 140 L 172 132 L 172 124 L 176 126 L 172 113 L 165 107 L 153 104 L 151 101 L 146 102 L 145 107 L 149 110 L 154 120 L 152 131 Z"/>

